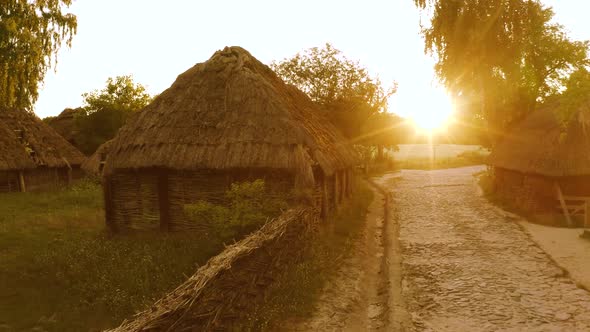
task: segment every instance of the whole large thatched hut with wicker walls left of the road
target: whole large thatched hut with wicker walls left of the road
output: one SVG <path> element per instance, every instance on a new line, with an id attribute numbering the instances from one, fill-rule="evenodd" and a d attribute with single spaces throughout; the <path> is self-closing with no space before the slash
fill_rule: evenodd
<path id="1" fill-rule="evenodd" d="M 232 182 L 308 190 L 328 215 L 351 193 L 353 151 L 301 91 L 240 47 L 216 52 L 121 128 L 106 161 L 113 228 L 182 229 L 183 206 Z"/>

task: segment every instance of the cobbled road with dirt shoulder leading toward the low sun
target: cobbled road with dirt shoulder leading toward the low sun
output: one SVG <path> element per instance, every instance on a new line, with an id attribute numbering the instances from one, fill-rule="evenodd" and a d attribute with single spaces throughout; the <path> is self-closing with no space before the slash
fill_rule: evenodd
<path id="1" fill-rule="evenodd" d="M 473 175 L 483 169 L 373 179 L 391 191 L 390 217 L 383 222 L 384 195 L 376 191 L 356 256 L 295 330 L 589 331 L 590 294 L 558 265 L 579 266 L 571 263 L 583 257 L 579 231 L 554 238 L 575 236 L 576 246 L 551 248 L 551 229 L 482 196 Z"/>

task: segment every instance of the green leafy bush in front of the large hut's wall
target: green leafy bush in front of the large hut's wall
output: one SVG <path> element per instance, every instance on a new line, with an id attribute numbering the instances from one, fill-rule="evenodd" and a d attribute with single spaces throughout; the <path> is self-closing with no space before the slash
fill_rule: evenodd
<path id="1" fill-rule="evenodd" d="M 237 240 L 258 229 L 288 208 L 284 199 L 265 190 L 264 180 L 233 183 L 226 192 L 227 206 L 205 201 L 187 204 L 185 214 L 194 222 L 206 222 L 223 241 Z"/>

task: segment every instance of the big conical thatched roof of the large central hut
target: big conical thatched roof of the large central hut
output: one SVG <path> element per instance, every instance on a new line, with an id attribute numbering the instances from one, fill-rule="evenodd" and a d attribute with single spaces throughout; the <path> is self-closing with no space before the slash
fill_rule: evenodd
<path id="1" fill-rule="evenodd" d="M 114 139 L 114 169 L 272 168 L 326 174 L 354 152 L 301 91 L 240 47 L 226 47 L 178 76 Z"/>

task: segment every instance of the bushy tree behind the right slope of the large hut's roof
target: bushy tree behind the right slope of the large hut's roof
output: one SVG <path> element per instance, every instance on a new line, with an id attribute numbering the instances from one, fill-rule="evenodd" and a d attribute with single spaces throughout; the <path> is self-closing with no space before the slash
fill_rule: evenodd
<path id="1" fill-rule="evenodd" d="M 369 117 L 386 111 L 387 99 L 396 91 L 396 86 L 385 90 L 378 78 L 330 44 L 273 62 L 271 68 L 319 104 L 351 139 L 361 136 Z"/>

